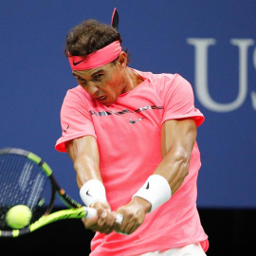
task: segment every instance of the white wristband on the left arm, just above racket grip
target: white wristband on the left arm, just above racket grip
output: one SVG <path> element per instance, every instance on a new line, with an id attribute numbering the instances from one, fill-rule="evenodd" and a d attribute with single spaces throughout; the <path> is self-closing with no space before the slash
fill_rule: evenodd
<path id="1" fill-rule="evenodd" d="M 106 202 L 106 191 L 99 179 L 90 179 L 82 185 L 80 196 L 85 206 L 89 207 L 96 202 Z"/>

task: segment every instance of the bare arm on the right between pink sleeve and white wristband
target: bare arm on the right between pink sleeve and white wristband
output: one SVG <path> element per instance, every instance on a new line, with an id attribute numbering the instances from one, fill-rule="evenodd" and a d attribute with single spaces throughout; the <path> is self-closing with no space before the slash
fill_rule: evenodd
<path id="1" fill-rule="evenodd" d="M 155 174 L 160 174 L 168 180 L 173 194 L 189 174 L 196 135 L 197 129 L 192 119 L 167 120 L 162 126 L 162 161 Z"/>

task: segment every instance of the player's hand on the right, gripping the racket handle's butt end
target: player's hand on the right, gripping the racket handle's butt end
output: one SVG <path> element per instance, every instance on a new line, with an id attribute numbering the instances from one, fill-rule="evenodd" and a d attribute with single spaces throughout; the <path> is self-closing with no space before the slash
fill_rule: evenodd
<path id="1" fill-rule="evenodd" d="M 115 231 L 124 234 L 133 233 L 143 223 L 145 214 L 150 209 L 151 204 L 148 201 L 137 196 L 134 197 L 129 204 L 116 210 L 116 214 L 123 215 L 123 220 L 121 225 L 115 223 Z"/>

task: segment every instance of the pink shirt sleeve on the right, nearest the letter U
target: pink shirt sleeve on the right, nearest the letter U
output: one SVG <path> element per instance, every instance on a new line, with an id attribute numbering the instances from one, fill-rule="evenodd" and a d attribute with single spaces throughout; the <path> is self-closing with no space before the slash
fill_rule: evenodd
<path id="1" fill-rule="evenodd" d="M 162 86 L 164 123 L 168 119 L 194 119 L 198 127 L 204 121 L 204 115 L 194 107 L 192 85 L 178 74 L 166 76 Z"/>

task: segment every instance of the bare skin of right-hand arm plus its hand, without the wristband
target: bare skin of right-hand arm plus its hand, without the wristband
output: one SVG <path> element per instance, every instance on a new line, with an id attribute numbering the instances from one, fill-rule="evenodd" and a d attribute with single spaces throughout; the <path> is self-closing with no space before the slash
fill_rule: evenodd
<path id="1" fill-rule="evenodd" d="M 154 174 L 163 176 L 169 183 L 172 194 L 176 192 L 189 174 L 192 148 L 197 129 L 193 119 L 167 120 L 161 131 L 162 160 Z M 144 221 L 145 214 L 151 209 L 151 203 L 135 196 L 130 203 L 120 207 L 117 213 L 123 215 L 122 225 L 116 224 L 116 230 L 127 234 L 134 232 Z"/>

